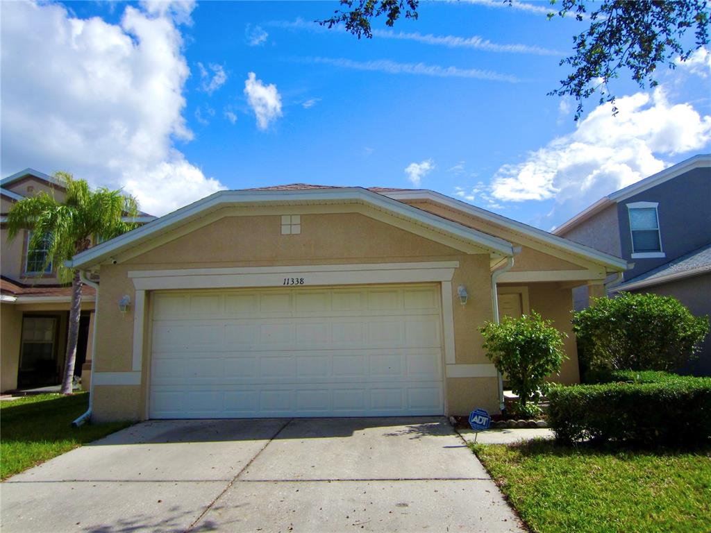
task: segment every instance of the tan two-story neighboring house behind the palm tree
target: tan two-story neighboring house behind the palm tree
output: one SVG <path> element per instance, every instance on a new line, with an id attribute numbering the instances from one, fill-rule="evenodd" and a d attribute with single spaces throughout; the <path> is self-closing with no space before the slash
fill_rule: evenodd
<path id="1" fill-rule="evenodd" d="M 8 242 L 6 217 L 12 206 L 45 192 L 62 201 L 65 188 L 52 176 L 32 168 L 0 181 L 0 391 L 59 384 L 64 370 L 71 288 L 60 284 L 55 265 L 44 268 L 46 250 L 28 249 L 26 230 Z M 146 222 L 154 217 L 145 215 Z M 95 289 L 82 288 L 82 313 L 75 375 L 90 384 Z"/>

